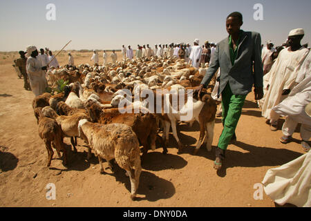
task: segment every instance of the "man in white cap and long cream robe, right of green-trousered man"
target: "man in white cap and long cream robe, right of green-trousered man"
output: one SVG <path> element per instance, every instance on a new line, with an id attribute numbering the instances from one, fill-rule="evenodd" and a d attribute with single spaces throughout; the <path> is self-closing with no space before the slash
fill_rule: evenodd
<path id="1" fill-rule="evenodd" d="M 294 88 L 295 80 L 301 65 L 309 50 L 301 46 L 304 31 L 297 28 L 290 31 L 288 36 L 289 47 L 281 50 L 271 70 L 263 77 L 264 88 L 267 93 L 263 102 L 259 102 L 261 115 L 270 120 L 271 131 L 277 131 L 279 114 L 272 108 L 283 101 Z"/>

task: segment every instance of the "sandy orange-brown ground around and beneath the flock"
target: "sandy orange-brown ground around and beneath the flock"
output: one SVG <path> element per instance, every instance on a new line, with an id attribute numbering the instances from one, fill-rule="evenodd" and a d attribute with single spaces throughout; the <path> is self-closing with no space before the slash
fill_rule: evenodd
<path id="1" fill-rule="evenodd" d="M 75 64 L 91 64 L 91 54 L 73 53 Z M 12 68 L 14 56 L 17 58 L 17 53 L 0 54 L 0 206 L 276 206 L 265 193 L 263 200 L 254 200 L 254 184 L 263 180 L 267 169 L 304 153 L 298 131 L 293 135 L 294 142 L 279 142 L 284 120 L 279 131 L 270 131 L 256 108 L 254 93 L 249 93 L 236 128 L 238 142 L 229 145 L 221 173 L 213 169 L 214 148 L 207 152 L 202 147 L 198 155 L 192 155 L 198 124 L 192 128 L 180 124 L 180 140 L 187 145 L 185 153 L 177 154 L 171 134 L 167 155 L 162 155 L 162 148 L 149 151 L 142 164 L 139 198 L 133 202 L 124 171 L 115 166 L 115 174 L 101 175 L 97 157 L 93 155 L 88 162 L 83 146 L 77 147 L 77 153 L 69 153 L 68 168 L 56 152 L 51 168 L 45 166 L 46 148 L 31 106 L 34 95 L 23 89 L 23 79 Z M 66 53 L 58 60 L 66 64 Z M 218 117 L 214 147 L 222 128 Z M 66 138 L 65 142 L 69 144 L 70 140 Z M 78 144 L 83 144 L 82 140 Z M 56 186 L 56 200 L 46 199 L 48 183 Z"/>

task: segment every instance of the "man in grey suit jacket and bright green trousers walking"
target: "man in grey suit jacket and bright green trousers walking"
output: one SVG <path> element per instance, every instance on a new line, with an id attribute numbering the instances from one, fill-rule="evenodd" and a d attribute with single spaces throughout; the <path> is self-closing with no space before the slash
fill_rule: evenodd
<path id="1" fill-rule="evenodd" d="M 226 19 L 229 37 L 217 44 L 211 64 L 205 77 L 194 93 L 207 87 L 220 68 L 218 96 L 222 95 L 223 132 L 216 148 L 214 168 L 220 169 L 225 159 L 225 150 L 235 140 L 235 130 L 241 116 L 246 95 L 254 85 L 255 99 L 263 97 L 263 64 L 261 61 L 261 35 L 241 30 L 243 17 L 232 12 Z"/>

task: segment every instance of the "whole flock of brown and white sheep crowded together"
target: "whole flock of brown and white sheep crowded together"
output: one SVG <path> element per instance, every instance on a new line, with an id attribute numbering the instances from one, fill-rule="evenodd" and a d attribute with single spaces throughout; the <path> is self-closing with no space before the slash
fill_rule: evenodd
<path id="1" fill-rule="evenodd" d="M 92 150 L 98 157 L 100 173 L 104 173 L 102 158 L 108 162 L 111 170 L 111 160 L 115 160 L 126 171 L 131 181 L 131 199 L 134 200 L 142 170 L 141 157 L 143 160 L 149 149 L 155 150 L 157 138 L 160 138 L 162 153 L 167 153 L 171 128 L 178 142 L 178 151 L 182 151 L 183 145 L 178 139 L 176 124 L 183 120 L 185 113 L 191 111 L 191 117 L 187 119 L 190 125 L 195 120 L 200 124 L 200 137 L 195 153 L 202 144 L 211 151 L 216 101 L 206 90 L 199 97 L 189 97 L 187 93 L 200 84 L 205 71 L 206 69 L 198 70 L 185 63 L 185 60 L 175 57 L 126 60 L 106 66 L 81 64 L 77 67 L 48 70 L 50 84 L 55 86 L 57 80 L 64 79 L 68 80 L 68 85 L 62 93 L 44 93 L 32 102 L 39 136 L 44 140 L 48 151 L 47 166 L 50 166 L 53 159 L 53 148 L 59 158 L 60 152 L 63 153 L 64 165 L 70 164 L 67 154 L 72 148 L 63 140 L 64 137 L 70 137 L 73 152 L 77 152 L 79 137 L 88 147 L 88 159 Z M 151 93 L 154 96 L 154 104 L 146 102 L 147 99 L 142 97 L 134 99 L 133 95 L 140 95 L 146 89 L 149 95 Z M 178 99 L 180 96 L 185 97 L 185 102 L 178 111 L 173 111 L 174 95 Z M 128 105 L 119 108 L 124 101 Z M 151 111 L 151 106 L 159 106 L 156 101 L 162 104 L 160 112 L 156 112 L 156 109 Z M 167 106 L 169 111 L 164 111 L 163 106 Z M 139 108 L 140 112 L 137 113 L 135 108 Z M 162 137 L 158 135 L 160 130 Z"/>

